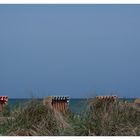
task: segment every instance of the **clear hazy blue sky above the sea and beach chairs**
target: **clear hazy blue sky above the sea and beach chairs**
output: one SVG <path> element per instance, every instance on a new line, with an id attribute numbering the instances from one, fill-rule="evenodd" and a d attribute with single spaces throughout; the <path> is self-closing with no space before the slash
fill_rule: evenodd
<path id="1" fill-rule="evenodd" d="M 140 5 L 0 5 L 0 95 L 140 96 Z"/>

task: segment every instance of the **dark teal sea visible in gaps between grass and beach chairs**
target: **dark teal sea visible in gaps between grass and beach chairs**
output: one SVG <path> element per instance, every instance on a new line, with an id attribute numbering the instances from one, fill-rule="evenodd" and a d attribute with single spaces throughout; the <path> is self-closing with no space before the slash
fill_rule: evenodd
<path id="1" fill-rule="evenodd" d="M 119 98 L 121 101 L 128 101 L 128 102 L 134 102 L 136 98 Z M 42 101 L 43 99 L 38 99 Z M 10 108 L 14 108 L 16 106 L 24 106 L 27 102 L 31 101 L 31 99 L 9 99 L 8 106 Z M 69 108 L 73 113 L 80 113 L 84 111 L 87 107 L 88 100 L 87 99 L 70 99 L 69 101 Z"/>

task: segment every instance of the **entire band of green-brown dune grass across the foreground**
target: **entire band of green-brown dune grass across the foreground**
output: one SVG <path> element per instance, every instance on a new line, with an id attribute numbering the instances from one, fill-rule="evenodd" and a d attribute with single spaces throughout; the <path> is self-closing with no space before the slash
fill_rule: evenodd
<path id="1" fill-rule="evenodd" d="M 8 114 L 8 113 L 7 113 Z M 89 100 L 80 114 L 62 114 L 32 100 L 10 112 L 0 124 L 2 135 L 135 136 L 140 135 L 140 111 L 124 102 Z"/>

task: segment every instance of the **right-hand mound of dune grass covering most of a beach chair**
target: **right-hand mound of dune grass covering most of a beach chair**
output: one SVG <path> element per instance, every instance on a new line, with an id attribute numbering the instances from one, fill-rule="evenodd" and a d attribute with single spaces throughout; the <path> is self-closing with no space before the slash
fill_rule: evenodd
<path id="1" fill-rule="evenodd" d="M 140 135 L 140 112 L 123 102 L 91 100 L 88 109 L 75 123 L 75 135 Z"/>

